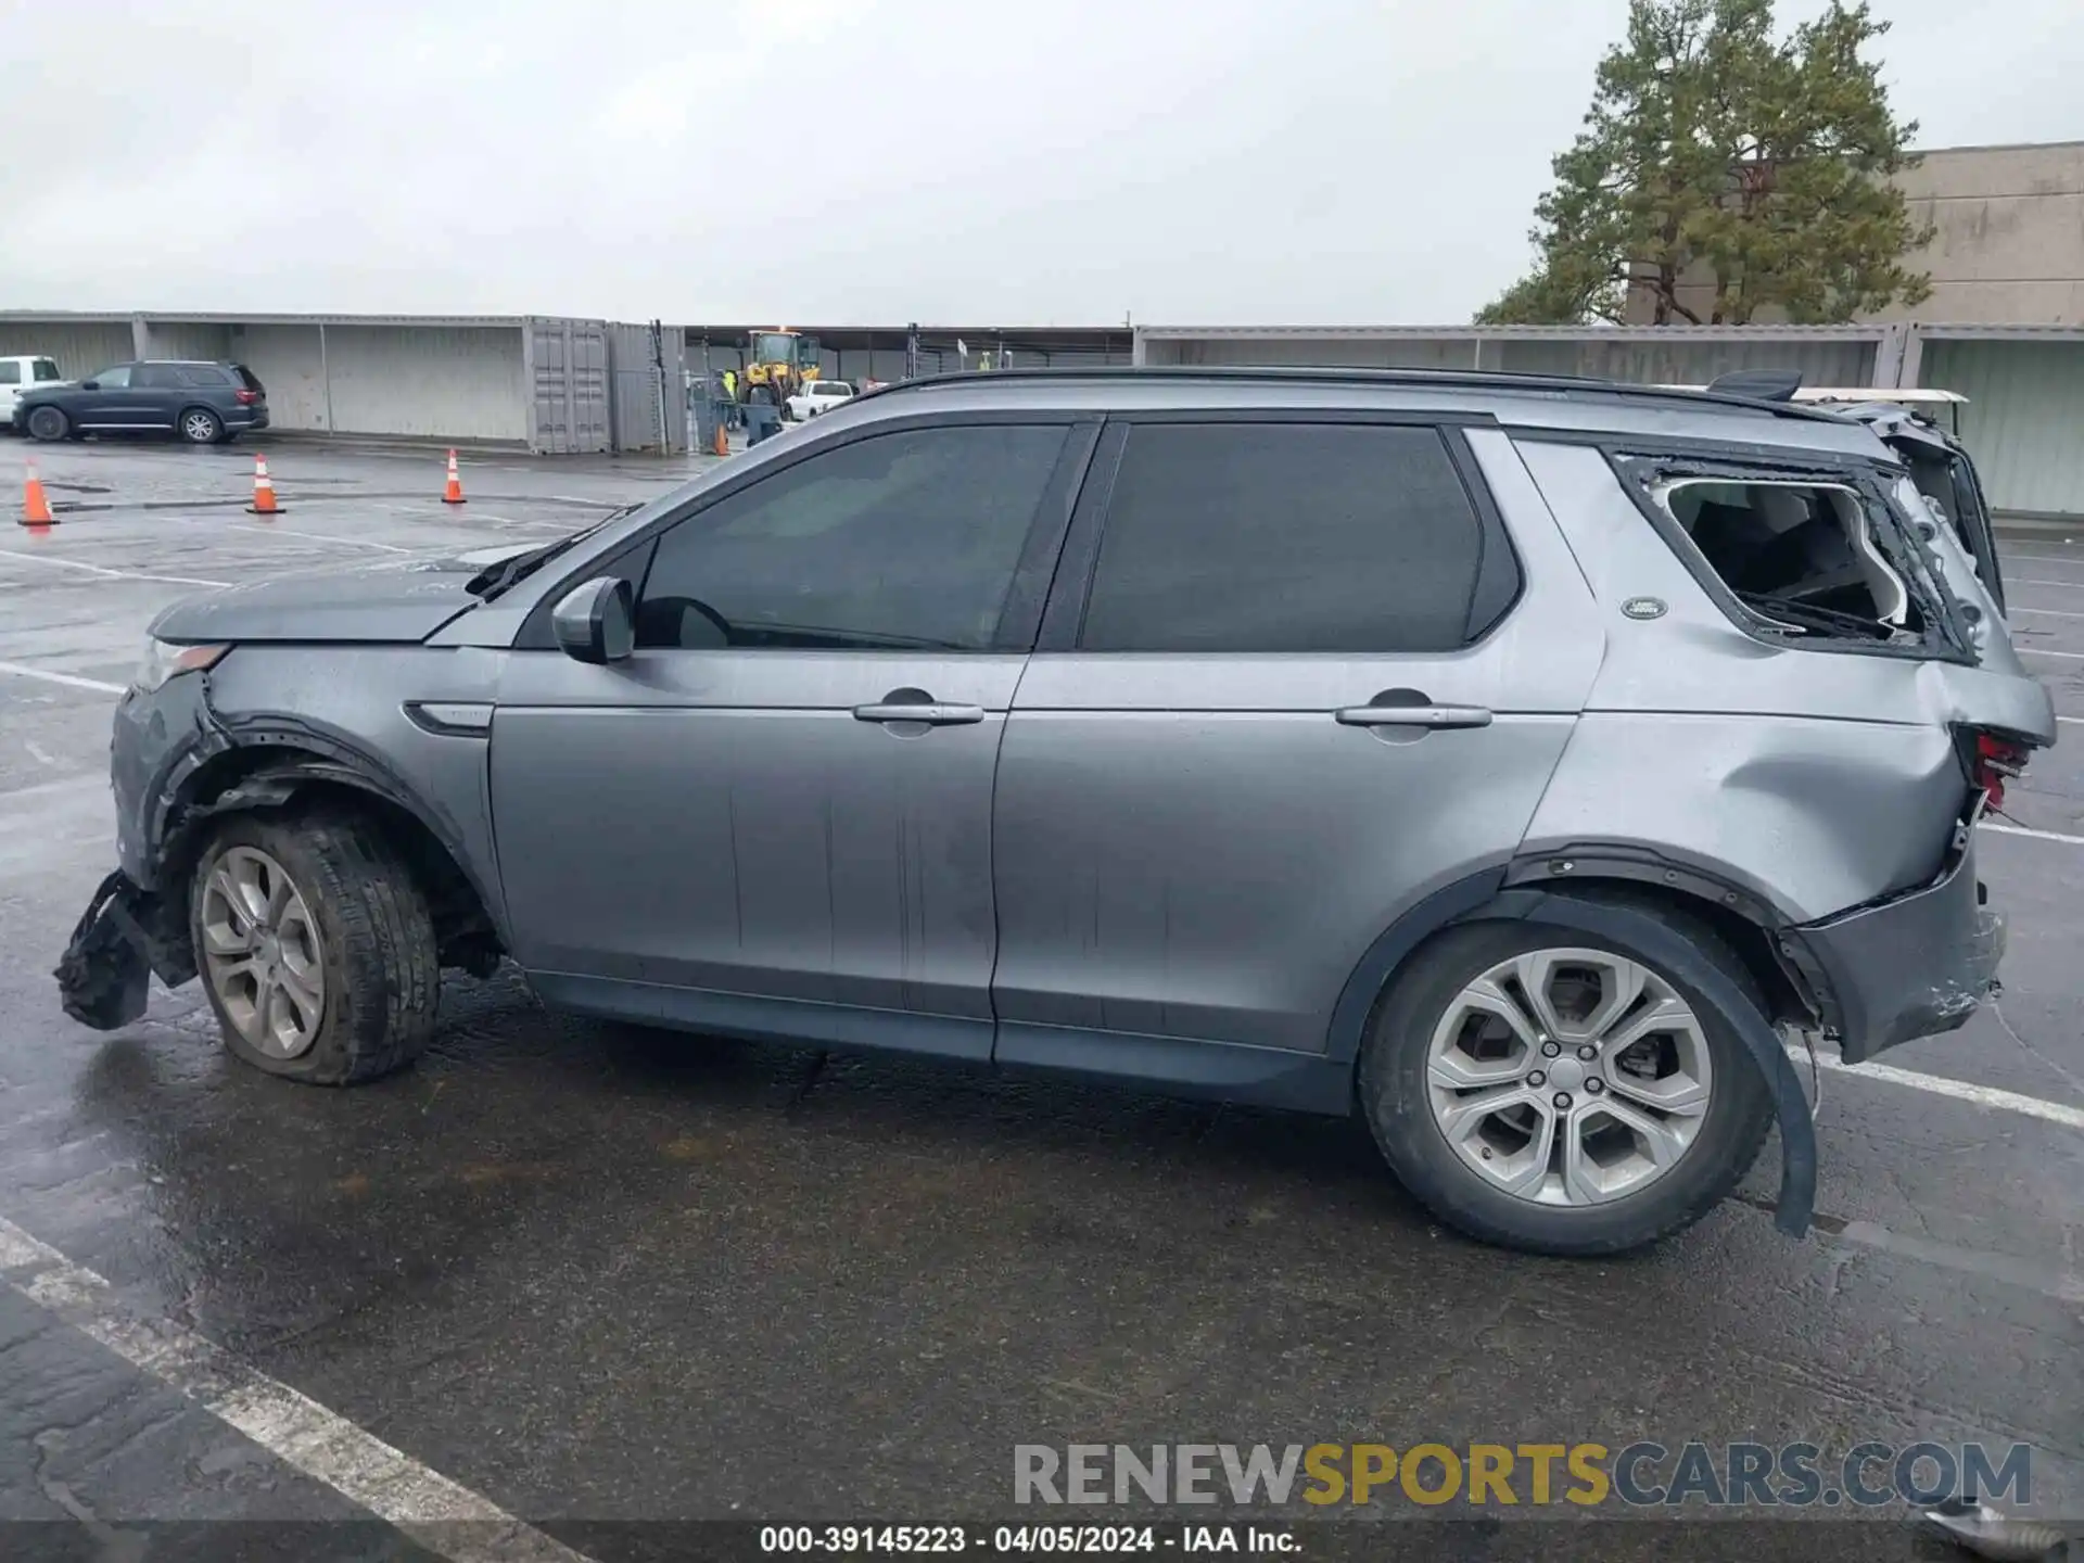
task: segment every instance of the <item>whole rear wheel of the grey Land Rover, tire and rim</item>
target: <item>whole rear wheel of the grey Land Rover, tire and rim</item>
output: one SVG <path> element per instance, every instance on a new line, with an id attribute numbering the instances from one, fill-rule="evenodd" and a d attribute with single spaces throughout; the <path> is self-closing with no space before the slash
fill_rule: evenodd
<path id="1" fill-rule="evenodd" d="M 1680 932 L 1759 1002 L 1711 929 Z M 1617 1255 L 1692 1225 L 1771 1123 L 1736 1025 L 1684 971 L 1503 921 L 1409 961 L 1361 1055 L 1361 1109 L 1436 1217 L 1542 1255 Z"/>

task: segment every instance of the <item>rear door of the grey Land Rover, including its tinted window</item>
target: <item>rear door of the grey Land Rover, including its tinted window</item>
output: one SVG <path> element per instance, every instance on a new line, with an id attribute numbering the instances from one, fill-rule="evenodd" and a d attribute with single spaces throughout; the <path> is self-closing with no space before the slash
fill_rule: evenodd
<path id="1" fill-rule="evenodd" d="M 1496 429 L 1111 423 L 1007 721 L 998 1057 L 1323 1052 L 1396 915 L 1519 846 L 1601 646 Z"/>

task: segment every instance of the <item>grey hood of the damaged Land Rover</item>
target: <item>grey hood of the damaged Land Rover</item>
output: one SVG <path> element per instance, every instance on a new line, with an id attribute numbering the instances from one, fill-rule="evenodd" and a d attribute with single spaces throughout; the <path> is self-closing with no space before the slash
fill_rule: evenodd
<path id="1" fill-rule="evenodd" d="M 156 640 L 419 642 L 477 606 L 465 586 L 486 565 L 540 544 L 448 559 L 302 571 L 183 598 L 152 621 Z"/>

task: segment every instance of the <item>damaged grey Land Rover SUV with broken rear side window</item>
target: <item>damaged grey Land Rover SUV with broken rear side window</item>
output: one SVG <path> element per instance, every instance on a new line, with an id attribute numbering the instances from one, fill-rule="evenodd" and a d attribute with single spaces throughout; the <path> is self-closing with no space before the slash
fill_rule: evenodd
<path id="1" fill-rule="evenodd" d="M 1874 427 L 1869 427 L 1874 423 Z M 1994 988 L 2055 740 L 1980 490 L 1765 396 L 992 373 L 531 552 L 158 617 L 60 965 L 346 1084 L 444 967 L 688 1032 L 1361 1115 L 1440 1219 L 1694 1221 Z"/>

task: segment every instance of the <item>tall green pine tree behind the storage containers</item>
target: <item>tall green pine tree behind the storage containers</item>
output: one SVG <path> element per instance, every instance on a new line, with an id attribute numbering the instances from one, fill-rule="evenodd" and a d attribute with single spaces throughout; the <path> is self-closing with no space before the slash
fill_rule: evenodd
<path id="1" fill-rule="evenodd" d="M 1919 229 L 1888 179 L 1915 121 L 1863 48 L 1888 31 L 1832 0 L 1786 40 L 1771 0 L 1632 0 L 1578 140 L 1534 208 L 1536 269 L 1484 325 L 1846 321 L 1930 296 L 1903 256 Z"/>

